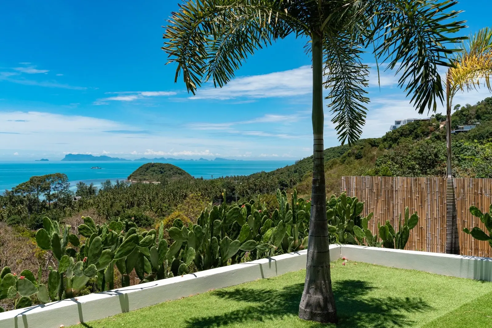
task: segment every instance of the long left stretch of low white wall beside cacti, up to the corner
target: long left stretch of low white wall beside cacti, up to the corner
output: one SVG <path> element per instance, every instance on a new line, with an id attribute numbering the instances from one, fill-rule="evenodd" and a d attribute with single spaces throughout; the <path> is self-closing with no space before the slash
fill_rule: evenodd
<path id="1" fill-rule="evenodd" d="M 306 250 L 0 313 L 0 328 L 59 328 L 306 268 Z M 340 246 L 330 246 L 333 260 Z"/>

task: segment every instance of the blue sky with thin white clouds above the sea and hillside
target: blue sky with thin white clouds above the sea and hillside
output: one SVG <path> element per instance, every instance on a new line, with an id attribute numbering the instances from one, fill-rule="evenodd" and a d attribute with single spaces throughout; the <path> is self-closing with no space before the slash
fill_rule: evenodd
<path id="1" fill-rule="evenodd" d="M 160 50 L 165 1 L 7 1 L 0 20 L 0 160 L 66 153 L 123 158 L 299 159 L 312 151 L 310 59 L 289 37 L 248 58 L 222 89 L 193 97 Z M 490 24 L 488 0 L 461 1 L 463 34 Z M 368 62 L 372 61 L 368 56 Z M 391 72 L 369 81 L 363 137 L 417 117 Z M 474 104 L 485 90 L 459 94 Z M 338 145 L 326 112 L 325 146 Z"/>

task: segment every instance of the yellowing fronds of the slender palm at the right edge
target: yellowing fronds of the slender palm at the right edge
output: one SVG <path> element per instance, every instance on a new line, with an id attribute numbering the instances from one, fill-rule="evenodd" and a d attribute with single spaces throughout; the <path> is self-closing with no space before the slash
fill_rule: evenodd
<path id="1" fill-rule="evenodd" d="M 492 29 L 482 28 L 463 44 L 463 51 L 452 61 L 453 67 L 448 69 L 447 79 L 450 81 L 451 97 L 465 89 L 476 89 L 481 81 L 492 91 Z"/>

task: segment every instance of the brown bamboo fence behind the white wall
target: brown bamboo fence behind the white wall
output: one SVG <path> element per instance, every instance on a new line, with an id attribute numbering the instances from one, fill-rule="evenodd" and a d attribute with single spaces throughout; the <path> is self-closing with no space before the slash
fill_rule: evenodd
<path id="1" fill-rule="evenodd" d="M 470 214 L 474 205 L 488 212 L 492 203 L 492 179 L 454 178 L 460 252 L 462 255 L 492 257 L 488 242 L 475 240 L 463 232 L 474 226 L 485 229 L 479 218 Z M 399 214 L 406 206 L 417 211 L 419 223 L 410 231 L 405 249 L 444 253 L 446 245 L 446 179 L 412 177 L 349 176 L 342 177 L 341 191 L 365 202 L 364 216 L 374 213 L 369 228 L 374 233 L 377 222 L 390 220 L 398 227 Z"/>

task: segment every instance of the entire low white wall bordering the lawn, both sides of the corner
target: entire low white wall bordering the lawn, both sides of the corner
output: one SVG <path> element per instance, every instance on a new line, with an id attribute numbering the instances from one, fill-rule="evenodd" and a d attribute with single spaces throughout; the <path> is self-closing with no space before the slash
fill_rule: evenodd
<path id="1" fill-rule="evenodd" d="M 349 260 L 492 281 L 492 258 L 352 245 L 330 246 L 332 261 Z M 102 319 L 163 301 L 306 268 L 307 251 L 186 274 L 76 299 L 0 313 L 0 328 L 59 328 Z"/>

